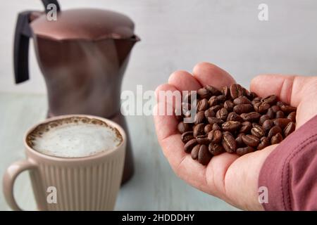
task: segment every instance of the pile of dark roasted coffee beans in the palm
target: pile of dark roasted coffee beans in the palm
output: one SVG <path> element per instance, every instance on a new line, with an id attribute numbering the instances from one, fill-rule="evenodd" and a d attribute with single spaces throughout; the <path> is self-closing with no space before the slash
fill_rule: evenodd
<path id="1" fill-rule="evenodd" d="M 197 91 L 197 114 L 190 117 L 192 93 L 182 103 L 178 131 L 184 150 L 192 159 L 207 165 L 213 155 L 224 152 L 244 155 L 280 143 L 294 131 L 296 107 L 279 101 L 275 95 L 260 98 L 240 84 L 221 90 L 205 86 Z"/>

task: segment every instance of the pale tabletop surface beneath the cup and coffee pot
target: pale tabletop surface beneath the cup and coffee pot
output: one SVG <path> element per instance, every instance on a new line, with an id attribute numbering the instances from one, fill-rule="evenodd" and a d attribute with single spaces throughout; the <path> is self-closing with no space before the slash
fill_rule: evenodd
<path id="1" fill-rule="evenodd" d="M 46 96 L 0 93 L 0 174 L 25 158 L 25 131 L 46 116 Z M 237 210 L 197 191 L 173 173 L 156 140 L 152 117 L 128 117 L 135 157 L 135 176 L 121 188 L 116 210 Z M 142 138 L 140 138 L 142 137 Z M 15 183 L 15 197 L 25 210 L 35 210 L 25 172 Z M 10 210 L 0 186 L 0 210 Z"/>

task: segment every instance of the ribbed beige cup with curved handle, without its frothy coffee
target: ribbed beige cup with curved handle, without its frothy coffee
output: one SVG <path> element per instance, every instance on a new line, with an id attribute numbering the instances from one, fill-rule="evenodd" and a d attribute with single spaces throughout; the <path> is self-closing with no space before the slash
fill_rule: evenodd
<path id="1" fill-rule="evenodd" d="M 118 129 L 122 143 L 113 150 L 82 158 L 44 155 L 27 145 L 27 135 L 40 124 L 73 116 L 106 122 Z M 8 205 L 13 210 L 21 210 L 13 196 L 13 185 L 21 172 L 29 170 L 38 210 L 113 210 L 123 174 L 125 131 L 111 120 L 90 115 L 52 117 L 40 124 L 24 137 L 27 159 L 14 162 L 4 174 L 4 196 Z"/>

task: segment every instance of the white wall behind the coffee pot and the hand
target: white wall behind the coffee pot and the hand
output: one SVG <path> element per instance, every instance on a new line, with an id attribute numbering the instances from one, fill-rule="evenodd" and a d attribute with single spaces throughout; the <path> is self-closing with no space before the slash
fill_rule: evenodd
<path id="1" fill-rule="evenodd" d="M 268 4 L 269 20 L 258 20 Z M 317 74 L 316 0 L 60 0 L 62 9 L 92 7 L 120 11 L 135 21 L 142 38 L 133 50 L 123 89 L 155 89 L 174 70 L 216 63 L 248 86 L 259 73 Z M 0 91 L 44 93 L 45 84 L 30 51 L 30 81 L 13 82 L 16 15 L 42 10 L 38 0 L 3 1 L 0 8 Z M 32 48 L 32 46 L 31 46 Z"/>

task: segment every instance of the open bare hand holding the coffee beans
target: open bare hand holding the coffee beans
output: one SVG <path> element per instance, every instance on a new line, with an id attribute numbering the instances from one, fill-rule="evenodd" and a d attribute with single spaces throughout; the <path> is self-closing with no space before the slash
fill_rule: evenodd
<path id="1" fill-rule="evenodd" d="M 235 80 L 228 72 L 210 63 L 199 63 L 194 67 L 193 75 L 185 71 L 170 75 L 168 84 L 162 84 L 156 89 L 156 96 L 159 91 L 196 91 L 206 84 L 221 88 L 232 83 Z M 317 77 L 260 75 L 252 79 L 250 90 L 261 97 L 275 94 L 281 101 L 296 106 L 296 129 L 316 114 Z M 208 165 L 201 165 L 184 152 L 175 116 L 157 114 L 163 104 L 168 103 L 158 98 L 154 122 L 159 143 L 174 172 L 188 184 L 235 207 L 263 210 L 258 200 L 259 174 L 263 162 L 278 145 L 268 146 L 240 158 L 235 154 L 223 153 L 214 156 Z"/>

